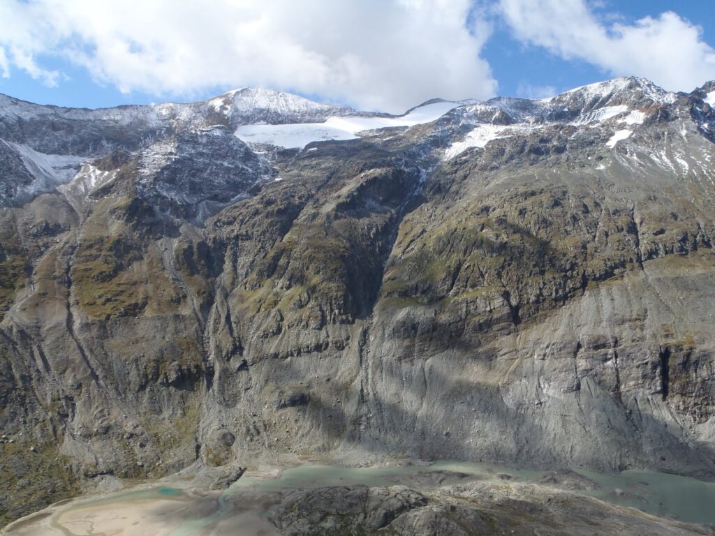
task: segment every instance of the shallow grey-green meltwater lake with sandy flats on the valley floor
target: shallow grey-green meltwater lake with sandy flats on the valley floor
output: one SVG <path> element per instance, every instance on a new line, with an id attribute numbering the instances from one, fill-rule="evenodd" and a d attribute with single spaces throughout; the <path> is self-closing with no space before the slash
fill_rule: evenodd
<path id="1" fill-rule="evenodd" d="M 48 532 L 12 530 L 8 534 L 65 536 L 99 534 L 100 532 L 94 532 L 94 526 L 91 532 L 82 532 L 84 528 L 79 532 L 73 532 L 74 529 L 70 530 L 61 519 L 66 519 L 68 514 L 74 518 L 78 515 L 82 517 L 84 515 L 82 512 L 85 511 L 87 517 L 93 517 L 92 512 L 97 510 L 122 510 L 122 508 L 127 510 L 127 507 L 137 506 L 142 510 L 140 516 L 142 520 L 147 518 L 144 514 L 153 515 L 154 522 L 157 521 L 157 516 L 166 515 L 163 519 L 167 520 L 167 528 L 162 530 L 162 535 L 199 535 L 209 529 L 215 535 L 270 535 L 275 534 L 275 530 L 265 519 L 271 515 L 270 501 L 266 501 L 265 497 L 272 492 L 327 486 L 381 487 L 395 484 L 428 491 L 458 482 L 491 480 L 501 473 L 508 474 L 510 482 L 524 483 L 537 483 L 545 475 L 541 471 L 448 460 L 435 462 L 432 465 L 403 464 L 360 468 L 301 465 L 283 470 L 277 478 L 246 475 L 220 494 L 201 494 L 163 486 L 119 492 L 95 500 L 72 502 L 57 510 L 49 520 L 36 518 L 38 522 L 43 523 Z M 668 515 L 688 522 L 715 524 L 715 482 L 636 470 L 622 472 L 619 475 L 603 475 L 586 470 L 576 470 L 576 473 L 598 485 L 596 490 L 578 490 L 577 493 L 581 495 L 590 495 L 617 505 L 635 507 L 654 515 Z M 157 513 L 159 511 L 162 513 Z M 73 522 L 74 527 L 82 527 L 81 521 Z M 131 529 L 127 527 L 127 530 Z"/>

